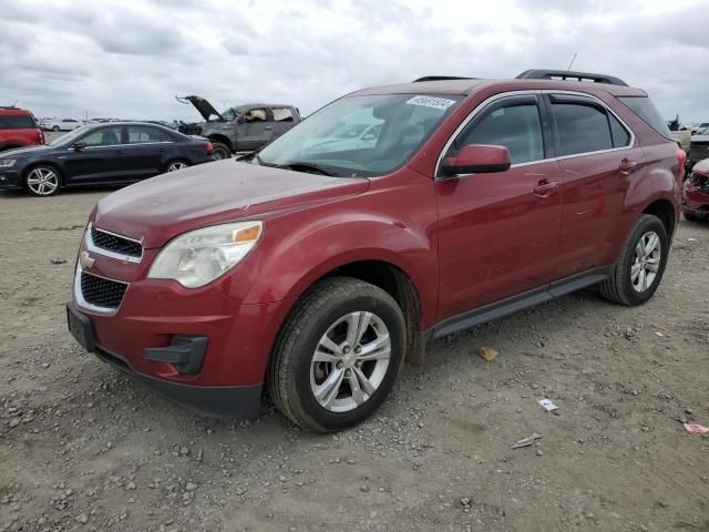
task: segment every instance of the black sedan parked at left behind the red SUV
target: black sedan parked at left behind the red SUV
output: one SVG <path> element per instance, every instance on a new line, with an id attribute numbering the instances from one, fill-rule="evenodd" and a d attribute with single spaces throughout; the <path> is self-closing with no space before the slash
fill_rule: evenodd
<path id="1" fill-rule="evenodd" d="M 0 190 L 51 196 L 63 186 L 121 185 L 214 161 L 207 139 L 155 124 L 80 127 L 45 146 L 0 154 Z"/>

